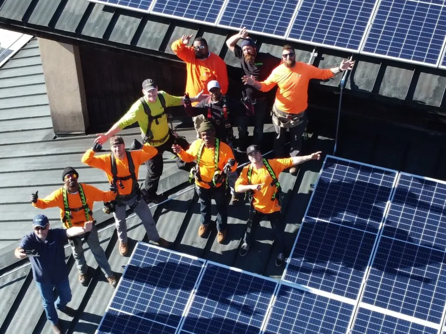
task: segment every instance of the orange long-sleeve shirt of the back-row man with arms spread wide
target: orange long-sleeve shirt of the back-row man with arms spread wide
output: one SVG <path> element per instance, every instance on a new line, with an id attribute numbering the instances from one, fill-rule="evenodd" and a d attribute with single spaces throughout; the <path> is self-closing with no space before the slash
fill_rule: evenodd
<path id="1" fill-rule="evenodd" d="M 320 69 L 303 62 L 296 62 L 293 68 L 284 64 L 276 67 L 270 76 L 260 82 L 262 92 L 278 86 L 274 104 L 283 112 L 299 114 L 308 107 L 308 83 L 310 79 L 327 80 L 334 76 L 330 69 Z"/>

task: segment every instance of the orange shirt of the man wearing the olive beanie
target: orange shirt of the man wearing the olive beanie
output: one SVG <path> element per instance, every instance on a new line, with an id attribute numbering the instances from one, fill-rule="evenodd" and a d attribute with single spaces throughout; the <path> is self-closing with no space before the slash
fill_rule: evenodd
<path id="1" fill-rule="evenodd" d="M 203 143 L 203 140 L 197 139 L 190 145 L 187 151 L 182 149 L 181 152 L 178 153 L 178 156 L 185 162 L 196 160 L 201 143 Z M 200 169 L 201 179 L 204 182 L 198 182 L 197 180 L 195 180 L 195 184 L 199 187 L 206 189 L 211 188 L 206 182 L 212 182 L 212 177 L 215 173 L 214 154 L 215 147 L 207 148 L 206 146 L 203 146 L 203 153 L 201 154 L 200 164 L 198 165 L 198 168 Z M 220 170 L 223 171 L 223 168 L 226 165 L 227 160 L 229 159 L 234 159 L 234 154 L 232 153 L 231 148 L 227 144 L 220 142 L 219 162 L 217 164 Z M 236 169 L 237 163 L 235 163 L 234 167 L 231 168 L 231 171 L 234 172 Z M 219 185 L 218 187 L 220 186 L 221 185 Z"/>

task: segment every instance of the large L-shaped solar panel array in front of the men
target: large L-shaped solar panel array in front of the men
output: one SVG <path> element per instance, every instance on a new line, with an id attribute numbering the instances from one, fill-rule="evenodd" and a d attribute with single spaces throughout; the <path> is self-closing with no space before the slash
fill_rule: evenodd
<path id="1" fill-rule="evenodd" d="M 278 282 L 138 243 L 98 333 L 433 334 L 446 184 L 327 156 Z"/>

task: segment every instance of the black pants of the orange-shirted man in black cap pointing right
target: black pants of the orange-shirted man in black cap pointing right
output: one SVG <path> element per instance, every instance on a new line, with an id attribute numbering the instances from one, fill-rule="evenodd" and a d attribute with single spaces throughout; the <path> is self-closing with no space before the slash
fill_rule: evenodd
<path id="1" fill-rule="evenodd" d="M 280 211 L 272 213 L 262 213 L 257 211 L 252 206 L 249 209 L 249 219 L 246 224 L 245 238 L 243 239 L 248 245 L 250 245 L 254 239 L 257 227 L 260 224 L 262 218 L 265 217 L 270 221 L 271 228 L 273 229 L 274 242 L 279 245 L 279 253 L 285 252 L 285 232 L 283 231 L 283 223 L 280 218 Z"/>

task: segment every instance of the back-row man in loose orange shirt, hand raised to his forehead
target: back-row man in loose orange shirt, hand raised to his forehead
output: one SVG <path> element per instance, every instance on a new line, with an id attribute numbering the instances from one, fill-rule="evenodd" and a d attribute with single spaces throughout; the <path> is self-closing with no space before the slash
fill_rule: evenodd
<path id="1" fill-rule="evenodd" d="M 204 95 L 210 94 L 208 92 L 208 83 L 212 80 L 217 80 L 220 84 L 222 94 L 227 92 L 228 79 L 226 63 L 217 54 L 209 51 L 208 42 L 203 37 L 198 37 L 194 40 L 193 46 L 188 47 L 190 39 L 193 35 L 183 35 L 179 40 L 172 43 L 172 50 L 175 54 L 186 63 L 187 79 L 186 90 L 190 96 L 198 95 L 203 92 Z M 196 105 L 198 102 L 193 103 Z M 194 120 L 195 130 L 197 130 L 203 116 L 192 118 Z M 195 121 L 197 120 L 197 122 Z"/>

